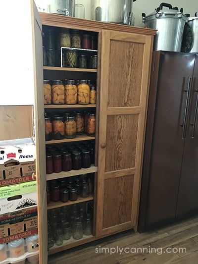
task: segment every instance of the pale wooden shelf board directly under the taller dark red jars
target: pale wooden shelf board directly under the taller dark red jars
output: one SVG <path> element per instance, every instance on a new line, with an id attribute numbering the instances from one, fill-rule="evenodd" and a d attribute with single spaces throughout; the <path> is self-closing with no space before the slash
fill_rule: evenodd
<path id="1" fill-rule="evenodd" d="M 89 167 L 89 168 L 82 168 L 82 169 L 78 169 L 78 170 L 72 169 L 70 171 L 61 171 L 59 173 L 47 174 L 46 180 L 49 181 L 49 180 L 54 180 L 54 179 L 67 178 L 67 177 L 71 177 L 71 176 L 93 173 L 93 172 L 97 172 L 97 171 L 98 171 L 98 167 L 95 167 L 92 164 L 91 167 Z"/>

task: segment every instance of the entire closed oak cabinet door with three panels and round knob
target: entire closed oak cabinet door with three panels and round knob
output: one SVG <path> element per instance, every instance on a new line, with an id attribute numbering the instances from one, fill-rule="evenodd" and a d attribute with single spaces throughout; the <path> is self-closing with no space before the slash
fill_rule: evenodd
<path id="1" fill-rule="evenodd" d="M 96 236 L 136 228 L 152 37 L 102 31 Z"/>

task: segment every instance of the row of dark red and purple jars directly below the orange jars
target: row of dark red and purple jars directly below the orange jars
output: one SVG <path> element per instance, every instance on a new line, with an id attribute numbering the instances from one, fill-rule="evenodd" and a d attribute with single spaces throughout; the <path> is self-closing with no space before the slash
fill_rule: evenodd
<path id="1" fill-rule="evenodd" d="M 94 164 L 94 157 L 94 148 L 89 145 L 86 147 L 65 148 L 60 151 L 47 151 L 46 174 L 89 168 L 91 164 Z"/>

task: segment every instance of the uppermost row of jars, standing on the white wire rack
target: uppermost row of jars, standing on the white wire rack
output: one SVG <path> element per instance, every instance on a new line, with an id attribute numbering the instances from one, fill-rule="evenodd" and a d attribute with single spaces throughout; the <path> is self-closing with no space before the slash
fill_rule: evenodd
<path id="1" fill-rule="evenodd" d="M 76 29 L 59 28 L 55 31 L 53 28 L 44 27 L 43 45 L 46 49 L 77 48 L 86 50 L 97 50 L 97 38 L 95 35 L 87 34 Z"/>

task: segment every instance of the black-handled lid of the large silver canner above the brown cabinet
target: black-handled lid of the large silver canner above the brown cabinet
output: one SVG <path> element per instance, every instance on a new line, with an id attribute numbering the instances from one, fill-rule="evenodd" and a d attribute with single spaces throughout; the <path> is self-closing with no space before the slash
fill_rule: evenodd
<path id="1" fill-rule="evenodd" d="M 166 9 L 163 7 L 167 7 Z M 169 3 L 161 3 L 159 7 L 155 8 L 155 11 L 150 13 L 149 15 L 146 16 L 145 13 L 142 13 L 143 16 L 143 22 L 149 21 L 152 19 L 157 19 L 157 18 L 183 18 L 186 20 L 186 15 L 183 14 L 183 8 L 179 10 L 177 6 L 172 7 L 171 4 Z"/>

